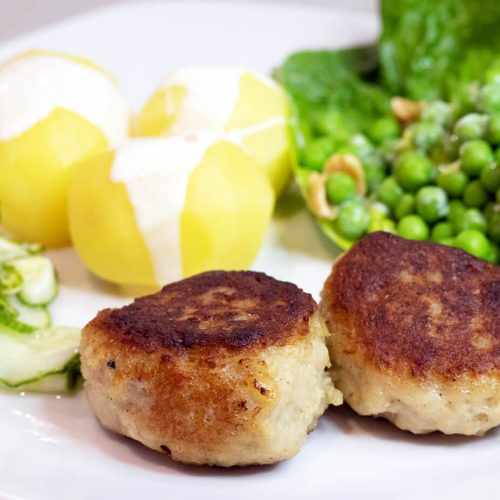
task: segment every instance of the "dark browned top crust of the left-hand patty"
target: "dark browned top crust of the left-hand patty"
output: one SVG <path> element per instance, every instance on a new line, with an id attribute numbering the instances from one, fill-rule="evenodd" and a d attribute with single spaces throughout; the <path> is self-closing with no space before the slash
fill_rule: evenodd
<path id="1" fill-rule="evenodd" d="M 263 273 L 211 271 L 165 286 L 94 320 L 118 341 L 160 347 L 245 349 L 305 335 L 316 309 L 309 294 Z"/>

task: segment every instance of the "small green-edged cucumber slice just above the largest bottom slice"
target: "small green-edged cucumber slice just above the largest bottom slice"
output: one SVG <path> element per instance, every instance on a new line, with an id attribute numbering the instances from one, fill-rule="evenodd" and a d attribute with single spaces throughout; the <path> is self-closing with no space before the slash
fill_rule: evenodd
<path id="1" fill-rule="evenodd" d="M 10 330 L 32 333 L 50 324 L 50 312 L 46 306 L 28 306 L 14 296 L 0 301 L 0 325 Z"/>

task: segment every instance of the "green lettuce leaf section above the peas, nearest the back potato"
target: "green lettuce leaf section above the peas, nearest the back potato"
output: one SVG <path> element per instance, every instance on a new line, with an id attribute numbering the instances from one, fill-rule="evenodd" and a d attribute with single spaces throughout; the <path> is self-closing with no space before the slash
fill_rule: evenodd
<path id="1" fill-rule="evenodd" d="M 389 95 L 371 83 L 376 68 L 374 47 L 305 51 L 288 57 L 276 76 L 292 97 L 298 144 L 321 134 L 328 127 L 325 117 L 341 143 L 388 113 Z"/>

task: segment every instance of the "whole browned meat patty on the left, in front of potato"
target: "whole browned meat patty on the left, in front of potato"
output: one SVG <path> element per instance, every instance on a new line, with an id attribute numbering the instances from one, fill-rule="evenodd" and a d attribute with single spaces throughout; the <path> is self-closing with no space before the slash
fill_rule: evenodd
<path id="1" fill-rule="evenodd" d="M 83 330 L 85 390 L 108 429 L 192 464 L 295 455 L 341 394 L 312 297 L 256 272 L 164 287 Z"/>

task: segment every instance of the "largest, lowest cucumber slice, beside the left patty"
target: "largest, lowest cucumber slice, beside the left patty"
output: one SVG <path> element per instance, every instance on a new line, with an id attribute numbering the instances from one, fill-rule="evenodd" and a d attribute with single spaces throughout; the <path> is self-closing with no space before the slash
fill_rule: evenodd
<path id="1" fill-rule="evenodd" d="M 31 335 L 0 331 L 0 385 L 36 392 L 75 389 L 79 343 L 78 328 L 45 328 Z"/>

